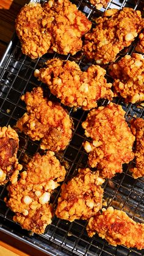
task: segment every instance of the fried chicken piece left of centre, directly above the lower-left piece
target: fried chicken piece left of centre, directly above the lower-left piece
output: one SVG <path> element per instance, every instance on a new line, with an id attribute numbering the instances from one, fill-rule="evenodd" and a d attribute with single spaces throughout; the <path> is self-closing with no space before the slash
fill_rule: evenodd
<path id="1" fill-rule="evenodd" d="M 20 131 L 33 141 L 42 139 L 42 149 L 64 150 L 72 135 L 72 122 L 67 111 L 60 104 L 44 98 L 41 87 L 26 92 L 21 99 L 27 105 L 27 112 L 16 123 Z"/>

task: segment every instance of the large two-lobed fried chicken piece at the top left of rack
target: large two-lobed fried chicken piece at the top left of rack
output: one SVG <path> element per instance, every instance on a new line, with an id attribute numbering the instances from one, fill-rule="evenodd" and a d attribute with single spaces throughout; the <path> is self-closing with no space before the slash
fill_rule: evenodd
<path id="1" fill-rule="evenodd" d="M 15 27 L 23 53 L 36 59 L 49 48 L 60 54 L 76 54 L 82 48 L 81 37 L 90 30 L 91 22 L 69 0 L 50 0 L 43 6 L 25 5 Z"/>

